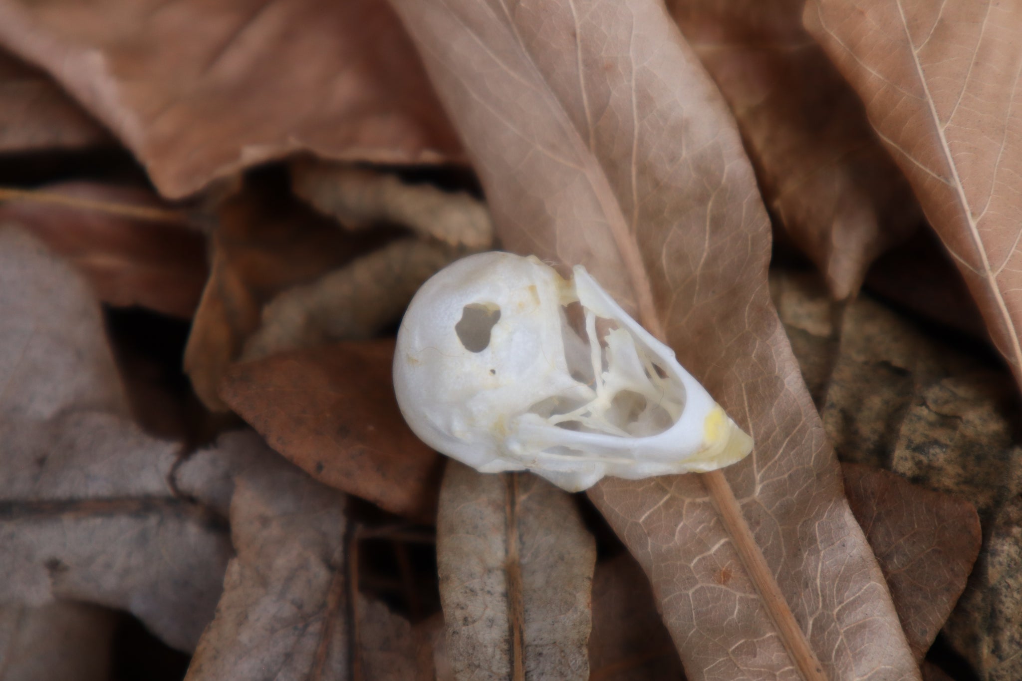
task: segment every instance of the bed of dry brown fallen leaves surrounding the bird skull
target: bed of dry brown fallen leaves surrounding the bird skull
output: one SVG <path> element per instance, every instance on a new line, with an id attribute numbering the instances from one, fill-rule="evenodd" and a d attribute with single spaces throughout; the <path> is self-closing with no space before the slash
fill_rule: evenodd
<path id="1" fill-rule="evenodd" d="M 106 609 L 195 651 L 190 678 L 1018 676 L 1016 388 L 943 256 L 904 241 L 911 185 L 1010 347 L 1014 90 L 986 96 L 983 55 L 1017 55 L 1000 28 L 948 17 L 1013 10 L 864 0 L 835 25 L 842 1 L 804 8 L 820 47 L 799 2 L 398 0 L 412 41 L 376 1 L 108 0 L 102 22 L 0 3 L 0 44 L 27 59 L 0 61 L 0 175 L 25 174 L 0 187 L 16 472 L 0 476 L 0 677 L 63 674 L 60 649 L 105 678 L 122 636 Z M 855 33 L 882 12 L 888 52 Z M 422 164 L 464 160 L 455 131 L 485 202 L 464 169 Z M 165 196 L 202 193 L 162 203 L 104 160 L 117 141 Z M 992 210 L 948 223 L 947 190 L 921 175 L 941 168 L 947 205 Z M 775 266 L 768 287 L 760 195 L 825 285 Z M 586 264 L 751 428 L 753 459 L 607 481 L 591 499 L 611 527 L 528 475 L 450 465 L 442 484 L 396 408 L 385 336 L 495 233 Z M 864 278 L 902 312 L 855 297 Z M 970 337 L 938 341 L 904 306 Z M 188 333 L 166 315 L 192 322 L 186 366 L 216 414 L 164 385 Z M 437 506 L 434 553 L 414 523 Z"/>

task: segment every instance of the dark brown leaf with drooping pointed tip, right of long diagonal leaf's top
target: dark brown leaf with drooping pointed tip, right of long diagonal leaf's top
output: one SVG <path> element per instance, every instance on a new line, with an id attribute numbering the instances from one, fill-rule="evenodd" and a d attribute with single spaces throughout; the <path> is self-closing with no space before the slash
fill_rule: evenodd
<path id="1" fill-rule="evenodd" d="M 802 28 L 803 4 L 668 6 L 738 120 L 766 205 L 843 299 L 922 215 L 862 102 Z"/>

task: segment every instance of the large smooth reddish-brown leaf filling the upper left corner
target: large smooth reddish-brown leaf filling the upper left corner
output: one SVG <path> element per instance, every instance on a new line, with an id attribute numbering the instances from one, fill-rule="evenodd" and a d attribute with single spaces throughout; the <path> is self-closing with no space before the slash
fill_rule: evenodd
<path id="1" fill-rule="evenodd" d="M 381 0 L 7 0 L 0 42 L 49 70 L 170 198 L 304 149 L 393 163 L 459 155 Z"/>

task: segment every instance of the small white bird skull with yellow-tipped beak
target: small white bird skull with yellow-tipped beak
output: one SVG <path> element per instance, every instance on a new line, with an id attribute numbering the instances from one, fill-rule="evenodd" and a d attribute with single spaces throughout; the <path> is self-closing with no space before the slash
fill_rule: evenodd
<path id="1" fill-rule="evenodd" d="M 427 281 L 398 334 L 394 390 L 436 450 L 568 491 L 605 475 L 711 471 L 752 439 L 582 266 L 479 253 Z"/>

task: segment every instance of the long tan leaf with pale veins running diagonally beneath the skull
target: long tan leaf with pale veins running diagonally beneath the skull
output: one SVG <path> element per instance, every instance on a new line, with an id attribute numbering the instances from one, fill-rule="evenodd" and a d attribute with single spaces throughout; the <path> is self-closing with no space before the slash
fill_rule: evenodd
<path id="1" fill-rule="evenodd" d="M 649 575 L 686 673 L 919 678 L 768 296 L 752 168 L 664 8 L 394 4 L 504 245 L 585 264 L 756 440 L 724 473 L 591 492 Z"/>

